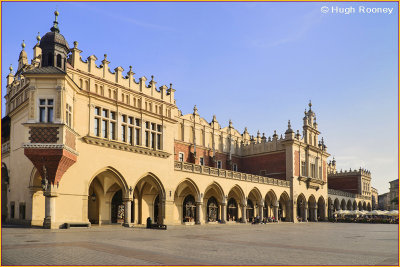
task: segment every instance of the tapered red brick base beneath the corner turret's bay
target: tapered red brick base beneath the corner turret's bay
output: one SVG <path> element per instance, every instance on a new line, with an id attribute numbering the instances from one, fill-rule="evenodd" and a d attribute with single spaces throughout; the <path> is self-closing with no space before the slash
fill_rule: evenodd
<path id="1" fill-rule="evenodd" d="M 24 154 L 43 177 L 43 164 L 47 169 L 47 178 L 52 184 L 60 182 L 63 174 L 76 161 L 77 156 L 65 149 L 25 148 Z"/>

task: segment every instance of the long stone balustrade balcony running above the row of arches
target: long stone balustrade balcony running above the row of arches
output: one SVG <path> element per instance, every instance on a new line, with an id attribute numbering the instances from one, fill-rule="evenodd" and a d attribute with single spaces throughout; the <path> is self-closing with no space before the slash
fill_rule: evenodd
<path id="1" fill-rule="evenodd" d="M 248 173 L 242 173 L 242 172 L 234 172 L 234 171 L 224 170 L 224 169 L 217 169 L 217 168 L 213 168 L 213 167 L 196 165 L 196 164 L 187 163 L 187 162 L 175 161 L 174 168 L 176 171 L 191 172 L 191 173 L 197 173 L 197 174 L 202 174 L 202 175 L 216 176 L 216 177 L 221 177 L 221 178 L 226 178 L 226 179 L 234 179 L 234 180 L 247 181 L 247 182 L 259 183 L 259 184 L 290 187 L 290 181 L 286 181 L 286 180 L 280 180 L 280 179 L 264 177 L 264 176 L 259 176 L 259 175 L 253 175 L 253 174 L 248 174 Z"/>

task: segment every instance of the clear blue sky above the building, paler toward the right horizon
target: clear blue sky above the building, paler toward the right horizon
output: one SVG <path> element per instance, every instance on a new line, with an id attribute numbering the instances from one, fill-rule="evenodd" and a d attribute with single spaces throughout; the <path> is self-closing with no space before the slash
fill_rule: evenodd
<path id="1" fill-rule="evenodd" d="M 111 69 L 132 65 L 137 79 L 173 83 L 184 114 L 196 104 L 207 121 L 215 114 L 223 127 L 232 119 L 240 132 L 271 136 L 288 119 L 301 132 L 311 99 L 339 170 L 369 169 L 380 194 L 398 178 L 397 3 L 2 2 L 3 97 L 22 40 L 31 60 L 56 8 L 83 59 L 94 54 L 99 65 L 106 53 Z"/>

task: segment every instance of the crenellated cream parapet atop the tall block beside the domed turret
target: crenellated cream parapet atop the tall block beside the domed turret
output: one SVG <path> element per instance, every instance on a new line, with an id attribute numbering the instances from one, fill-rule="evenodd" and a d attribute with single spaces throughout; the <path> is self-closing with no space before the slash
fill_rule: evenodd
<path id="1" fill-rule="evenodd" d="M 151 76 L 151 80 L 147 82 L 146 77 L 135 79 L 135 73 L 132 71 L 132 66 L 125 73 L 121 66 L 110 68 L 110 61 L 107 59 L 107 54 L 104 54 L 100 65 L 96 64 L 98 58 L 95 55 L 89 56 L 86 60 L 81 57 L 82 51 L 78 49 L 78 42 L 74 42 L 74 47 L 70 49 L 71 55 L 68 58 L 70 68 L 73 73 L 73 80 L 83 90 L 121 100 L 122 102 L 140 101 L 140 106 L 145 106 L 146 102 L 166 102 L 175 105 L 175 89 L 170 86 L 157 87 L 157 82 Z M 111 93 L 109 94 L 109 90 Z M 117 92 L 118 91 L 118 92 Z M 128 96 L 128 99 L 126 98 Z M 140 96 L 148 97 L 145 98 Z M 135 97 L 135 100 L 131 100 Z M 138 106 L 139 106 L 138 105 Z"/>

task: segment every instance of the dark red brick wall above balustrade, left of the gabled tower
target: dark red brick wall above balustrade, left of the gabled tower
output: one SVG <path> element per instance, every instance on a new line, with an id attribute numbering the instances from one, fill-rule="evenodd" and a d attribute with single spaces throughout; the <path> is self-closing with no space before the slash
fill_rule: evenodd
<path id="1" fill-rule="evenodd" d="M 266 170 L 268 177 L 286 180 L 286 153 L 242 158 L 241 172 L 260 175 L 261 170 Z"/>

